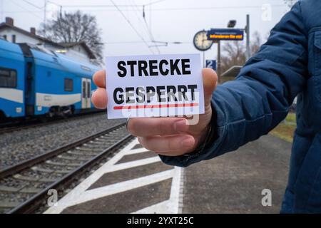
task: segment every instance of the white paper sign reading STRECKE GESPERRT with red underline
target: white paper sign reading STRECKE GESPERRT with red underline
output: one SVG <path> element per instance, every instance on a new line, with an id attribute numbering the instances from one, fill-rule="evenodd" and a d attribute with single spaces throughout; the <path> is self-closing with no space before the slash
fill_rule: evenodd
<path id="1" fill-rule="evenodd" d="M 204 113 L 199 54 L 106 58 L 108 118 Z"/>

